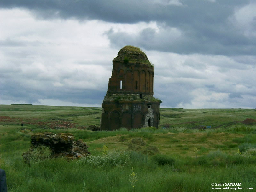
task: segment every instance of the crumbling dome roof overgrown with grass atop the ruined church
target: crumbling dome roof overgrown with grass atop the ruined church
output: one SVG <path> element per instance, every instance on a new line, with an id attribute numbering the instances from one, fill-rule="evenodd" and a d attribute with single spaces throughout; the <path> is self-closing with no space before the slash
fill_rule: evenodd
<path id="1" fill-rule="evenodd" d="M 117 54 L 117 57 L 113 59 L 113 61 L 124 62 L 125 64 L 146 64 L 152 66 L 149 62 L 147 55 L 140 50 L 139 47 L 133 47 L 127 45 L 120 49 Z"/>

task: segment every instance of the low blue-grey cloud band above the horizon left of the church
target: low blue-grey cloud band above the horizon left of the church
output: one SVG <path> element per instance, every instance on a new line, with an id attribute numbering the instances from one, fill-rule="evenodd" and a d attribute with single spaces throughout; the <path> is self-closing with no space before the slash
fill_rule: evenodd
<path id="1" fill-rule="evenodd" d="M 29 86 L 24 80 L 5 80 L 0 82 L 2 100 L 25 101 L 40 103 L 39 100 L 52 99 L 78 104 L 102 103 L 106 90 L 76 89 L 68 87 L 53 87 L 50 82 L 41 81 L 37 87 Z M 40 84 L 41 83 L 41 84 Z M 48 87 L 48 88 L 45 88 Z"/>

